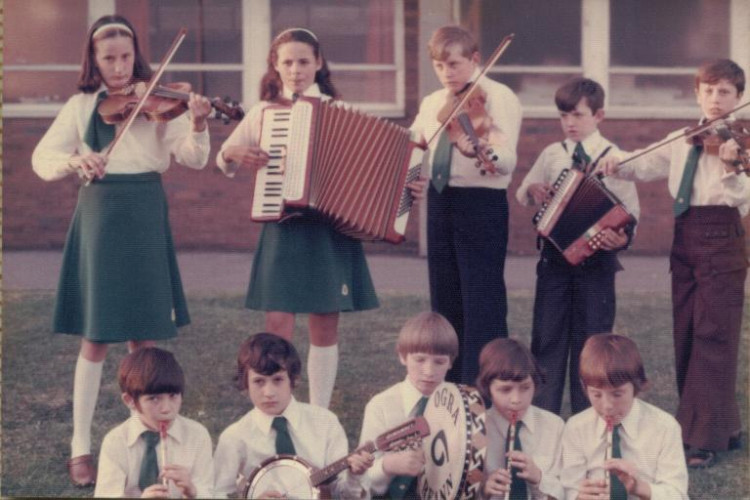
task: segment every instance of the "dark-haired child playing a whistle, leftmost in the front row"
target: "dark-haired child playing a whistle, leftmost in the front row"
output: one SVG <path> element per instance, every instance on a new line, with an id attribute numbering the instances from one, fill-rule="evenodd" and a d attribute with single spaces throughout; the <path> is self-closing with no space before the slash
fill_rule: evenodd
<path id="1" fill-rule="evenodd" d="M 211 436 L 179 414 L 185 375 L 172 353 L 138 349 L 122 360 L 117 378 L 131 416 L 104 437 L 94 497 L 211 497 Z"/>

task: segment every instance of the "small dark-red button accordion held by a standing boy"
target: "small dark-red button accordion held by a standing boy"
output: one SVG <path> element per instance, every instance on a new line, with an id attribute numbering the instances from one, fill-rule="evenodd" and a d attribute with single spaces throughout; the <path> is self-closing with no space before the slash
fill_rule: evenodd
<path id="1" fill-rule="evenodd" d="M 620 230 L 635 221 L 596 176 L 565 169 L 552 189 L 555 194 L 534 216 L 534 224 L 574 266 L 599 250 L 604 229 Z"/>

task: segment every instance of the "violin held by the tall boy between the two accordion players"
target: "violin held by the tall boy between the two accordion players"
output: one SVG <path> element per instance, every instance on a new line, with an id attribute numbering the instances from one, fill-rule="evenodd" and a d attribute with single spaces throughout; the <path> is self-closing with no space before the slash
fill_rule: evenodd
<path id="1" fill-rule="evenodd" d="M 452 143 L 455 144 L 463 135 L 469 138 L 477 158 L 476 166 L 482 175 L 488 171 L 496 173 L 498 169 L 494 162 L 497 161 L 497 155 L 492 148 L 483 149 L 479 143 L 480 138 L 487 139 L 490 127 L 492 127 L 492 118 L 485 108 L 487 93 L 479 85 L 469 89 L 470 87 L 471 83 L 467 83 L 458 93 L 449 94 L 437 118 L 440 123 L 450 120 L 445 125 L 445 130 Z M 470 95 L 462 99 L 462 95 L 466 92 Z M 458 111 L 454 112 L 457 106 Z M 451 114 L 453 118 L 450 118 Z"/>

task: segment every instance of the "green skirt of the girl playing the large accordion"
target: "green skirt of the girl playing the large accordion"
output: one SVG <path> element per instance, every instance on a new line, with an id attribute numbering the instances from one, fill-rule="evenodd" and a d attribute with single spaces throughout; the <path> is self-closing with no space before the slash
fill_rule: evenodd
<path id="1" fill-rule="evenodd" d="M 378 305 L 361 242 L 312 214 L 263 225 L 247 308 L 323 314 Z"/>

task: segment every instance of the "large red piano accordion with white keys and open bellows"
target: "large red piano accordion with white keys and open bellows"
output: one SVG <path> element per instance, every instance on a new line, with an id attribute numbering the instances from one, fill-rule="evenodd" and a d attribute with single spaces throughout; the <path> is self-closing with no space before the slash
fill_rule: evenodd
<path id="1" fill-rule="evenodd" d="M 312 208 L 362 240 L 404 239 L 424 150 L 408 129 L 319 98 L 263 110 L 251 219 L 277 221 Z"/>

